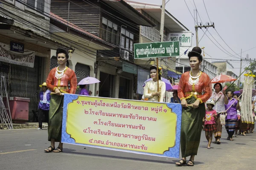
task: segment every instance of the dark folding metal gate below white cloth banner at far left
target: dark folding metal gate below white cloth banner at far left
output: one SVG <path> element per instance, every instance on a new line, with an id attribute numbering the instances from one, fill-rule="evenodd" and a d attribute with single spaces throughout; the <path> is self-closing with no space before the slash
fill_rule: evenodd
<path id="1" fill-rule="evenodd" d="M 10 97 L 29 98 L 29 121 L 33 120 L 33 112 L 38 108 L 38 94 L 40 92 L 42 58 L 35 56 L 34 68 L 0 62 L 0 74 L 6 77 L 7 89 Z"/>

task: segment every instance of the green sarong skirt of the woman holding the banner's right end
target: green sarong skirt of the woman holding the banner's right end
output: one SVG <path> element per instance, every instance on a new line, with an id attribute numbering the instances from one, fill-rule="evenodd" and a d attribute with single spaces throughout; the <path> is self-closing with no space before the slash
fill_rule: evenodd
<path id="1" fill-rule="evenodd" d="M 196 99 L 191 97 L 186 99 L 188 104 L 193 104 Z M 204 103 L 199 107 L 182 108 L 181 131 L 180 131 L 180 149 L 182 157 L 197 155 L 201 138 L 202 121 L 205 116 Z"/>

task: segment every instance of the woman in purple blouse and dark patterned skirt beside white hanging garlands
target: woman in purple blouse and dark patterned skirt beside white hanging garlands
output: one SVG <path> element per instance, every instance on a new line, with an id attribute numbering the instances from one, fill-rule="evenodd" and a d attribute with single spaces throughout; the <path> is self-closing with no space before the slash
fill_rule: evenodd
<path id="1" fill-rule="evenodd" d="M 223 91 L 224 94 L 224 103 L 225 103 L 225 109 L 227 110 L 226 115 L 226 121 L 225 121 L 225 127 L 227 130 L 227 140 L 233 141 L 233 134 L 236 130 L 236 121 L 237 121 L 237 110 L 240 108 L 239 106 L 239 98 L 234 99 L 233 98 L 233 91 L 228 91 L 227 95 L 226 91 Z M 230 107 L 231 106 L 231 107 Z"/>

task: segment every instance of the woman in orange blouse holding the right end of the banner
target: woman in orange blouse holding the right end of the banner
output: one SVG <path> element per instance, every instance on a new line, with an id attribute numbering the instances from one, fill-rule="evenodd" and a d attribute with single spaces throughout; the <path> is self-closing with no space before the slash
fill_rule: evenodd
<path id="1" fill-rule="evenodd" d="M 194 47 L 189 52 L 189 64 L 192 68 L 181 75 L 178 96 L 182 105 L 180 148 L 182 159 L 175 164 L 182 166 L 186 164 L 186 157 L 190 156 L 188 166 L 194 166 L 194 158 L 197 155 L 202 121 L 205 116 L 205 105 L 212 95 L 212 85 L 209 76 L 199 70 L 203 60 L 201 48 Z M 204 94 L 202 92 L 204 91 Z M 191 106 L 188 106 L 191 105 Z"/>

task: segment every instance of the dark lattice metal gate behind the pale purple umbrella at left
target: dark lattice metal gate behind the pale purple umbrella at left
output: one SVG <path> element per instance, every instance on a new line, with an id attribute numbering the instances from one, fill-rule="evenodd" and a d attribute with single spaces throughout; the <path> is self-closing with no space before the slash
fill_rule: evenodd
<path id="1" fill-rule="evenodd" d="M 79 83 L 85 77 L 90 76 L 90 67 L 88 65 L 76 63 L 75 73 L 77 78 L 77 83 Z M 89 86 L 86 88 L 89 91 Z M 76 94 L 79 94 L 80 90 L 76 91 Z"/>

